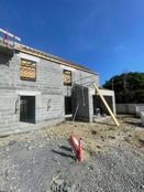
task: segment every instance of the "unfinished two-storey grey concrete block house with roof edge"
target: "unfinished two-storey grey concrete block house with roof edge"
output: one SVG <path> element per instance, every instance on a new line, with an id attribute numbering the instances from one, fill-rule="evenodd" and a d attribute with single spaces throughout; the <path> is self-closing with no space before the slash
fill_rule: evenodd
<path id="1" fill-rule="evenodd" d="M 0 132 L 24 131 L 30 124 L 62 122 L 66 117 L 91 122 L 107 113 L 92 83 L 99 75 L 81 65 L 0 39 Z M 13 38 L 15 38 L 13 35 Z M 19 40 L 19 39 L 18 39 Z M 115 114 L 114 93 L 101 90 Z"/>

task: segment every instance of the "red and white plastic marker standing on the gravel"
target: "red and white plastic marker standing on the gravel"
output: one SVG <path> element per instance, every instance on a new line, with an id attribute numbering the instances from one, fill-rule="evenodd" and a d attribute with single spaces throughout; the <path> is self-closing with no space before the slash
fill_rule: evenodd
<path id="1" fill-rule="evenodd" d="M 78 159 L 78 161 L 81 161 L 81 138 L 79 140 L 77 140 L 74 135 L 71 134 L 70 135 L 70 142 L 71 142 L 71 146 L 75 150 L 75 153 L 76 153 L 76 157 Z"/>

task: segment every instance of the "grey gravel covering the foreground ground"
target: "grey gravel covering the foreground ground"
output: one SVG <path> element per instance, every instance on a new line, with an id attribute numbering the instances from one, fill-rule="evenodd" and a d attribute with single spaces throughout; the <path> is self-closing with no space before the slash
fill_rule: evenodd
<path id="1" fill-rule="evenodd" d="M 144 191 L 143 146 L 122 143 L 118 138 L 108 142 L 109 148 L 76 162 L 66 138 L 40 132 L 2 138 L 0 192 Z"/>

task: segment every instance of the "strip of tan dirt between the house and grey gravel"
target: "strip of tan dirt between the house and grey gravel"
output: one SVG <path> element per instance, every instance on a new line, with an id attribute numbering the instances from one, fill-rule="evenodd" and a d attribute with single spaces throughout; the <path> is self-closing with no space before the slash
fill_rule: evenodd
<path id="1" fill-rule="evenodd" d="M 84 159 L 89 154 L 109 150 L 112 146 L 131 145 L 134 148 L 143 149 L 144 128 L 141 126 L 141 119 L 135 116 L 121 115 L 118 117 L 118 120 L 120 127 L 117 127 L 111 118 L 93 124 L 65 121 L 64 124 L 43 127 L 41 130 L 29 134 L 1 138 L 0 145 L 5 145 L 12 140 L 35 140 L 36 137 L 69 139 L 69 136 L 74 134 L 77 139 L 82 139 Z"/>

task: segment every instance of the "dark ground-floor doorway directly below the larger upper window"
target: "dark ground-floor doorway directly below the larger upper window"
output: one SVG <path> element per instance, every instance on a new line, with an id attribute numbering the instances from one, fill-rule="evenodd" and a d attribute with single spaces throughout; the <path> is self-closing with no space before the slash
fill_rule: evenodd
<path id="1" fill-rule="evenodd" d="M 20 121 L 35 122 L 35 96 L 21 96 Z"/>

